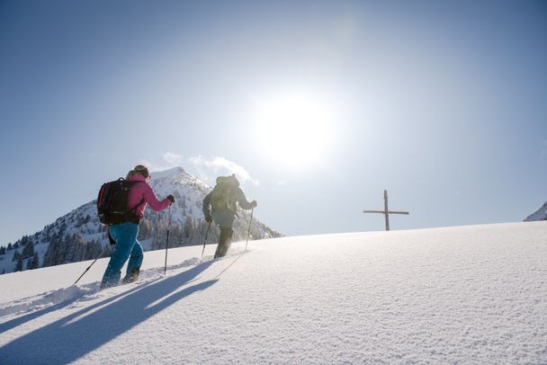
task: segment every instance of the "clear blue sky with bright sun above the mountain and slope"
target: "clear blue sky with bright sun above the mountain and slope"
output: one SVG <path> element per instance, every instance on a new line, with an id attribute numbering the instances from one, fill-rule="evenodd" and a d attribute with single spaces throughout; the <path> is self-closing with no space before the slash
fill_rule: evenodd
<path id="1" fill-rule="evenodd" d="M 441 4 L 442 3 L 442 4 Z M 236 171 L 287 235 L 547 200 L 547 5 L 0 1 L 0 245 L 145 162 Z"/>

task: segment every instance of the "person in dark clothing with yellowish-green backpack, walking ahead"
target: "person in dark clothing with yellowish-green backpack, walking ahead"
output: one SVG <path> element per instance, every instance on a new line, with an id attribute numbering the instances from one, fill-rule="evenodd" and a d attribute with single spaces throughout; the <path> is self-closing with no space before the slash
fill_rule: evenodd
<path id="1" fill-rule="evenodd" d="M 256 207 L 256 200 L 247 201 L 234 174 L 219 176 L 215 188 L 203 199 L 205 220 L 207 223 L 214 220 L 215 224 L 220 227 L 220 239 L 215 258 L 222 257 L 228 252 L 233 234 L 232 225 L 238 209 L 236 203 L 241 209 L 249 210 Z"/>

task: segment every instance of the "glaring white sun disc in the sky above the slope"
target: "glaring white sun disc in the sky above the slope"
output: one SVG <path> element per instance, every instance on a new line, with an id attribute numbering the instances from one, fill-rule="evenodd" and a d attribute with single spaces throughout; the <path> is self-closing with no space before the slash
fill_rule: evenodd
<path id="1" fill-rule="evenodd" d="M 316 165 L 332 142 L 332 112 L 308 95 L 285 94 L 256 102 L 253 122 L 258 148 L 276 164 Z"/>

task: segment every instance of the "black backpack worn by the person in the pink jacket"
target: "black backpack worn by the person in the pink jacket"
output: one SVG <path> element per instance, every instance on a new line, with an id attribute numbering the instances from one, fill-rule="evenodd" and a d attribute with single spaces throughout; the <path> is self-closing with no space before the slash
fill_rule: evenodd
<path id="1" fill-rule="evenodd" d="M 128 208 L 130 190 L 136 183 L 123 178 L 103 183 L 97 196 L 97 213 L 103 225 L 116 225 L 136 216 L 135 209 L 144 202 L 144 199 L 140 200 L 135 207 Z"/>

